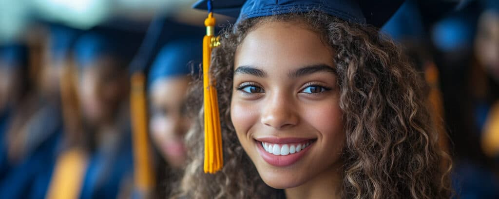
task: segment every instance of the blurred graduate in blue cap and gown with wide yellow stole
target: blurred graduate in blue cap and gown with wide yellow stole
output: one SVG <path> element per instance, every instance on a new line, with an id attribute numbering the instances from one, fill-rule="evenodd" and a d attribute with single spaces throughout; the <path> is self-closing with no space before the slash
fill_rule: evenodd
<path id="1" fill-rule="evenodd" d="M 66 146 L 58 157 L 47 197 L 130 194 L 131 187 L 125 188 L 133 172 L 127 65 L 134 46 L 119 31 L 91 30 L 78 37 L 74 60 L 83 134 L 73 134 L 80 142 Z"/>

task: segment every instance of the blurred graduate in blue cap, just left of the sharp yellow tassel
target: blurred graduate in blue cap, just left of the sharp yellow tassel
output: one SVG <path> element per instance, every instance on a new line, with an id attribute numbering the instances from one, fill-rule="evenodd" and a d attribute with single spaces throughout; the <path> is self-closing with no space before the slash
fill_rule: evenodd
<path id="1" fill-rule="evenodd" d="M 197 38 L 168 42 L 162 47 L 148 75 L 152 143 L 159 152 L 157 197 L 178 188 L 178 174 L 185 166 L 187 149 L 184 136 L 192 119 L 187 114 L 187 92 L 199 76 L 202 45 Z"/>

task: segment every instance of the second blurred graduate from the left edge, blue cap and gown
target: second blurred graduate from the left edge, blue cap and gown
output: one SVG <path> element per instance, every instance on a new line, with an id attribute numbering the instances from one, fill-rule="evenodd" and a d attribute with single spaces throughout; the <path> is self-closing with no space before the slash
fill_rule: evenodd
<path id="1" fill-rule="evenodd" d="M 19 116 L 7 134 L 9 169 L 2 179 L 0 195 L 5 198 L 40 198 L 45 194 L 63 133 L 60 108 L 61 71 L 70 62 L 69 50 L 77 31 L 48 25 L 42 43 L 40 68 L 33 79 L 32 93 L 22 100 Z M 35 69 L 30 65 L 30 70 Z"/>

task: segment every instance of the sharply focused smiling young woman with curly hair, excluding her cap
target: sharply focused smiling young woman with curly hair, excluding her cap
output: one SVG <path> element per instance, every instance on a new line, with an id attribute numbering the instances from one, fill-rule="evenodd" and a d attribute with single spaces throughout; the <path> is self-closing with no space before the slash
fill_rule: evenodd
<path id="1" fill-rule="evenodd" d="M 187 134 L 180 195 L 450 196 L 426 85 L 375 27 L 320 10 L 246 18 L 227 28 L 212 60 L 225 165 L 202 173 L 201 115 Z"/>

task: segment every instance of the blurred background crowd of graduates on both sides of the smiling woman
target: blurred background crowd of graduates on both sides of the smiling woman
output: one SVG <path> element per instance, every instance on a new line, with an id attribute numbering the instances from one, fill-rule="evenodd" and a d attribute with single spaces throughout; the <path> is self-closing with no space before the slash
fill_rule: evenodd
<path id="1" fill-rule="evenodd" d="M 0 0 L 0 198 L 178 186 L 206 33 L 194 1 Z M 499 1 L 406 0 L 381 32 L 428 81 L 456 195 L 499 198 Z"/>

